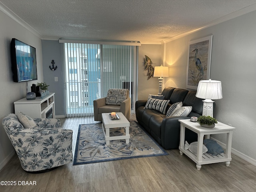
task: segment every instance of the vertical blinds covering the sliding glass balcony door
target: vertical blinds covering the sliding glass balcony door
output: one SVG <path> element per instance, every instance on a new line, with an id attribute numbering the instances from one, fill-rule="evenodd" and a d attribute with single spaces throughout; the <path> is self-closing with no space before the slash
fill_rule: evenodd
<path id="1" fill-rule="evenodd" d="M 137 46 L 64 43 L 67 117 L 92 116 L 93 100 L 127 88 L 136 100 Z"/>

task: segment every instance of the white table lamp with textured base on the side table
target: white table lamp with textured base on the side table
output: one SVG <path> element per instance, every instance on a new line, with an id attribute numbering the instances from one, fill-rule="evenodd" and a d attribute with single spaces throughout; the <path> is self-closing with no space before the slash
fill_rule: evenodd
<path id="1" fill-rule="evenodd" d="M 216 80 L 202 80 L 198 82 L 196 97 L 203 100 L 203 116 L 213 117 L 213 102 L 212 99 L 222 98 L 221 82 Z"/>

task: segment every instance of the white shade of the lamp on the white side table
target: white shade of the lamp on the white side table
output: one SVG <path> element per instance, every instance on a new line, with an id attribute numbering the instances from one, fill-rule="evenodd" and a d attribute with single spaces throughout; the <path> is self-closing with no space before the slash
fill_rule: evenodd
<path id="1" fill-rule="evenodd" d="M 221 81 L 202 80 L 198 82 L 196 97 L 201 99 L 221 99 L 222 87 Z"/>

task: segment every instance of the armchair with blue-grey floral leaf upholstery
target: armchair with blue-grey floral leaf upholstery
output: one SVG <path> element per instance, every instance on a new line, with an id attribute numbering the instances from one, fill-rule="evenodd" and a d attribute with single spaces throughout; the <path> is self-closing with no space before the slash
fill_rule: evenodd
<path id="1" fill-rule="evenodd" d="M 60 128 L 59 119 L 26 118 L 36 126 L 25 128 L 16 114 L 2 120 L 26 172 L 46 172 L 72 162 L 72 130 Z"/>

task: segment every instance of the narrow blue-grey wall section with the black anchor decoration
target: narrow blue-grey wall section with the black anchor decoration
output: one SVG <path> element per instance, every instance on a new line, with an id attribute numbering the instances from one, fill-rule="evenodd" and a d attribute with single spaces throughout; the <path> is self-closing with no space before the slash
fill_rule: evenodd
<path id="1" fill-rule="evenodd" d="M 61 44 L 56 40 L 42 40 L 42 55 L 43 55 L 43 72 L 44 82 L 50 85 L 48 90 L 55 93 L 55 115 L 57 118 L 65 116 L 65 90 L 64 90 L 64 68 L 62 66 Z M 50 70 L 57 66 L 55 71 Z M 54 77 L 58 77 L 58 82 L 54 81 Z"/>

